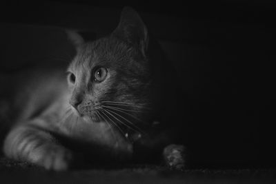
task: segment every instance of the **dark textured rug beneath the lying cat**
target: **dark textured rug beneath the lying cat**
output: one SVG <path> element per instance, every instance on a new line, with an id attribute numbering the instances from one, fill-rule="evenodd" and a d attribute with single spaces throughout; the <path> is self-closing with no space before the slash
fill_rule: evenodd
<path id="1" fill-rule="evenodd" d="M 276 169 L 176 172 L 157 165 L 128 165 L 49 172 L 28 163 L 0 159 L 0 183 L 276 183 Z"/>

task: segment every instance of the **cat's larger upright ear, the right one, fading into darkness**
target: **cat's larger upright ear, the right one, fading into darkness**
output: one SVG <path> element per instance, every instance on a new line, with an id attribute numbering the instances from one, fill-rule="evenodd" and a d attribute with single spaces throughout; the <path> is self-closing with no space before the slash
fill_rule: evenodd
<path id="1" fill-rule="evenodd" d="M 112 33 L 124 41 L 136 45 L 146 55 L 148 49 L 148 29 L 139 14 L 130 7 L 121 11 L 119 25 Z"/>

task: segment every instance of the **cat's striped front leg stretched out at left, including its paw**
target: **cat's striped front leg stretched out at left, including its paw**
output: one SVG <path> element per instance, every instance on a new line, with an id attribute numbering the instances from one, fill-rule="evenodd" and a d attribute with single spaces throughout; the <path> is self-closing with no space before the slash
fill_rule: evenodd
<path id="1" fill-rule="evenodd" d="M 28 161 L 47 170 L 67 170 L 72 161 L 72 153 L 59 145 L 52 134 L 30 123 L 12 129 L 3 152 L 10 159 Z"/>

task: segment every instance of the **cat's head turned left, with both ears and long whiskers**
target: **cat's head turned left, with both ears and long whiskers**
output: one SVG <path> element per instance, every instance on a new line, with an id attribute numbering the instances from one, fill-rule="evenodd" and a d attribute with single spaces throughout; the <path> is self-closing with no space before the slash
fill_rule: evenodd
<path id="1" fill-rule="evenodd" d="M 152 73 L 147 56 L 148 30 L 137 12 L 124 8 L 119 25 L 107 37 L 70 39 L 77 56 L 68 68 L 70 104 L 88 122 L 143 117 L 151 103 Z"/>

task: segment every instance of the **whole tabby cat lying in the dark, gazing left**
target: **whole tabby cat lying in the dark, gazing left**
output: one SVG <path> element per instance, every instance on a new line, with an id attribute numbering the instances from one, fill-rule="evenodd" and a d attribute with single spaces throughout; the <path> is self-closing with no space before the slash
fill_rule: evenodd
<path id="1" fill-rule="evenodd" d="M 67 33 L 77 54 L 66 74 L 18 72 L 2 92 L 3 153 L 55 171 L 161 159 L 186 167 L 178 77 L 139 14 L 124 8 L 117 28 L 95 41 Z"/>

